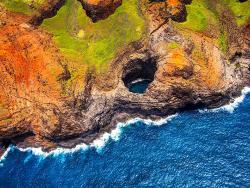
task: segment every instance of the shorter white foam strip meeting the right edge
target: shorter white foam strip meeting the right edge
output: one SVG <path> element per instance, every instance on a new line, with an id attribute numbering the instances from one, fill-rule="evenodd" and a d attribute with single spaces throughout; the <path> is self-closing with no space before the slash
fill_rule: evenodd
<path id="1" fill-rule="evenodd" d="M 233 113 L 234 110 L 244 101 L 244 99 L 246 98 L 247 94 L 250 93 L 250 87 L 245 87 L 242 91 L 241 91 L 241 96 L 237 97 L 234 99 L 233 102 L 224 105 L 222 107 L 219 108 L 214 108 L 214 109 L 202 109 L 199 110 L 199 112 L 201 113 L 206 113 L 206 112 L 221 112 L 221 111 L 227 111 L 229 113 Z"/>

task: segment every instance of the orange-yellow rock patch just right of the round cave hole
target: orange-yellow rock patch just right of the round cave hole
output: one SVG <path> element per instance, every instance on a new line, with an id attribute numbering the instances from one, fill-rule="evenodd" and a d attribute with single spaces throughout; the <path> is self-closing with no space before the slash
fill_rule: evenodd
<path id="1" fill-rule="evenodd" d="M 165 84 L 193 85 L 201 89 L 216 90 L 225 84 L 222 79 L 223 68 L 219 63 L 219 52 L 213 46 L 211 41 L 199 38 L 193 35 L 197 41 L 196 49 L 192 55 L 188 57 L 182 47 L 176 49 L 168 49 L 168 56 L 165 64 L 159 67 L 158 79 Z M 201 44 L 207 48 L 206 51 L 212 54 L 206 54 L 200 48 Z M 218 53 L 218 54 L 217 54 Z M 189 79 L 185 79 L 183 75 L 187 72 L 193 72 Z"/>

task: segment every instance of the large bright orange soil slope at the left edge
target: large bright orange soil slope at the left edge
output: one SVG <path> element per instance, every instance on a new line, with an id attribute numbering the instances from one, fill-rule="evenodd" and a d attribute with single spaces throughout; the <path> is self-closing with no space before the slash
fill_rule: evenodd
<path id="1" fill-rule="evenodd" d="M 48 34 L 23 24 L 27 19 L 13 13 L 0 17 L 5 22 L 0 26 L 0 125 L 16 112 L 34 115 L 37 105 L 60 104 L 63 68 L 57 49 Z"/>

